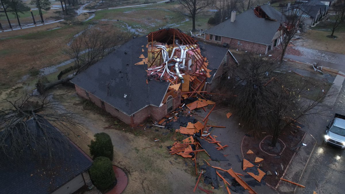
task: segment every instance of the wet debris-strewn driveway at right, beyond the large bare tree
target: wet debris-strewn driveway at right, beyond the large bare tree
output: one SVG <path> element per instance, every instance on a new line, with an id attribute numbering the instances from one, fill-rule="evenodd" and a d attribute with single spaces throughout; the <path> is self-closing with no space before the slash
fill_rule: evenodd
<path id="1" fill-rule="evenodd" d="M 318 62 L 321 66 L 338 69 L 345 72 L 345 55 L 343 54 L 305 48 L 301 46 L 296 46 L 294 49 L 299 50 L 302 53 L 302 56 L 286 54 L 284 57 L 309 64 Z"/>

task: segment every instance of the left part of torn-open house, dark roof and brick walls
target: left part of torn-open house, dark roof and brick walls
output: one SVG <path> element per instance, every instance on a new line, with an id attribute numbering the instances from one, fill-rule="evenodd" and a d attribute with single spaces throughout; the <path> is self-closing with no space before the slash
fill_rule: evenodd
<path id="1" fill-rule="evenodd" d="M 131 126 L 159 120 L 181 103 L 169 82 L 147 79 L 147 37 L 132 39 L 71 80 L 77 94 Z M 141 58 L 139 58 L 142 55 Z M 164 102 L 165 101 L 165 102 Z"/>

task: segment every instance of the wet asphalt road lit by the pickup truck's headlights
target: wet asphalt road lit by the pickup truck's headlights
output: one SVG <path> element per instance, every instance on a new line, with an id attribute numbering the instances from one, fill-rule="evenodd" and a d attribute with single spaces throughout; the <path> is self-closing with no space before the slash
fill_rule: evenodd
<path id="1" fill-rule="evenodd" d="M 331 112 L 345 115 L 345 82 Z M 312 194 L 313 191 L 317 194 L 345 193 L 344 149 L 322 143 L 330 119 L 331 116 L 316 118 L 314 127 L 309 130 L 317 145 L 300 182 L 306 188 L 297 188 L 297 194 Z"/>

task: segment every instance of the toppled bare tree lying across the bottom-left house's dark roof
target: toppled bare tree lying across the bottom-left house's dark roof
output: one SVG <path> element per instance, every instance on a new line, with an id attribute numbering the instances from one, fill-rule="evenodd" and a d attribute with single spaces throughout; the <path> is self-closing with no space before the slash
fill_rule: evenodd
<path id="1" fill-rule="evenodd" d="M 16 100 L 0 101 L 1 164 L 22 161 L 27 157 L 53 159 L 57 152 L 68 149 L 68 140 L 55 127 L 74 134 L 72 129 L 83 130 L 83 125 L 75 108 L 64 106 L 64 102 L 54 99 L 57 97 L 25 94 Z M 49 127 L 48 122 L 55 127 Z M 29 156 L 24 153 L 28 149 Z"/>

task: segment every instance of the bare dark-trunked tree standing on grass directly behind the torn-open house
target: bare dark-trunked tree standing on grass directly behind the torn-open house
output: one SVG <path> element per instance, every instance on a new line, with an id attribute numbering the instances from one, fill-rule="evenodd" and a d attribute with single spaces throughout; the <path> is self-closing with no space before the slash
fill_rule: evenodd
<path id="1" fill-rule="evenodd" d="M 195 32 L 195 19 L 197 14 L 201 13 L 205 8 L 207 8 L 211 1 L 210 0 L 179 0 L 178 1 L 181 6 L 189 11 L 190 17 L 192 18 L 193 22 L 193 29 L 192 31 Z"/>

